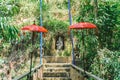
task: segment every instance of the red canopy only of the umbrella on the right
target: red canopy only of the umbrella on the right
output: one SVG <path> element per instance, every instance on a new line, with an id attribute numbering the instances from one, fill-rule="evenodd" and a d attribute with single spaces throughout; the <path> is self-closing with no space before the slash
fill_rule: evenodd
<path id="1" fill-rule="evenodd" d="M 69 26 L 70 29 L 93 29 L 97 28 L 96 25 L 89 22 L 80 22 Z"/>

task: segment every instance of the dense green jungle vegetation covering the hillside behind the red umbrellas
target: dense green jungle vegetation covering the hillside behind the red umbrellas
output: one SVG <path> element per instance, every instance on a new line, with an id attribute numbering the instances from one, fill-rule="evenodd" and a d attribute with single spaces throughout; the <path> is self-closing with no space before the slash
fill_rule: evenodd
<path id="1" fill-rule="evenodd" d="M 84 30 L 84 33 L 87 33 L 85 37 L 87 71 L 104 80 L 120 80 L 119 0 L 70 1 L 73 24 L 92 22 L 98 28 L 95 31 Z M 34 20 L 36 24 L 40 24 L 39 6 L 39 0 L 0 0 L 0 64 L 6 57 L 12 60 L 13 56 L 20 57 L 22 51 L 26 49 L 29 51 L 31 34 L 26 33 L 24 37 L 20 28 L 33 24 Z M 67 0 L 43 0 L 42 7 L 43 26 L 49 30 L 49 35 L 54 37 L 58 30 L 67 34 L 69 26 Z M 82 53 L 81 31 L 73 30 L 72 33 L 79 42 L 75 46 Z M 46 44 L 48 51 L 50 45 L 51 43 Z M 17 53 L 19 55 L 15 56 Z"/>

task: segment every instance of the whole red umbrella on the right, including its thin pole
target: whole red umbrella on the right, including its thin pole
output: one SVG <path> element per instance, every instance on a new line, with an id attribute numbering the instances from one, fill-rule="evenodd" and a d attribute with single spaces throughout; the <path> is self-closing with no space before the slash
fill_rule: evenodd
<path id="1" fill-rule="evenodd" d="M 76 23 L 76 24 L 73 24 L 73 25 L 69 26 L 69 29 L 76 29 L 76 30 L 94 29 L 94 28 L 97 28 L 96 25 L 93 24 L 93 23 L 89 23 L 89 22 L 80 22 L 80 23 Z M 83 32 L 82 32 L 82 39 L 83 39 L 82 44 L 84 46 L 84 33 Z M 84 68 L 84 73 L 85 73 L 84 52 L 83 52 L 83 68 Z"/>

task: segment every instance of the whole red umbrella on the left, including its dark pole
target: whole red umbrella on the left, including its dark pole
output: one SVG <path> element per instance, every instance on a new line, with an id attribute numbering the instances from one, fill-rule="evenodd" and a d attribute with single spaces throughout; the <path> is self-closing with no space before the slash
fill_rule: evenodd
<path id="1" fill-rule="evenodd" d="M 42 26 L 37 26 L 34 22 L 33 25 L 28 25 L 28 26 L 24 26 L 23 28 L 21 28 L 22 30 L 28 30 L 28 31 L 32 31 L 32 45 L 34 44 L 34 36 L 35 36 L 35 32 L 48 32 L 47 29 L 45 29 Z M 31 75 L 31 69 L 32 69 L 32 52 L 31 52 L 31 61 L 30 61 L 30 75 Z"/>

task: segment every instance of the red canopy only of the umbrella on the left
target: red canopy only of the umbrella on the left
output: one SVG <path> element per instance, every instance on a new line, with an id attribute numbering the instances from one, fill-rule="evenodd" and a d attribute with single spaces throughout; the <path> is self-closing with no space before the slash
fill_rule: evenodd
<path id="1" fill-rule="evenodd" d="M 42 26 L 37 26 L 36 24 L 24 26 L 21 29 L 22 30 L 29 30 L 29 31 L 32 31 L 32 32 L 48 32 L 47 29 L 45 29 Z"/>

